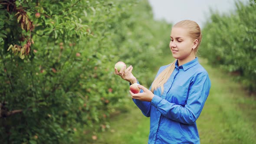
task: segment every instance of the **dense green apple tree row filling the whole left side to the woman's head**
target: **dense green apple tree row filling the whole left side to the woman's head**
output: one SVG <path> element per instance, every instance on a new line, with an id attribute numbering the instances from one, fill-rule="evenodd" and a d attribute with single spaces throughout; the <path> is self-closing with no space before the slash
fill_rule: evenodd
<path id="1" fill-rule="evenodd" d="M 0 143 L 92 141 L 129 100 L 115 63 L 150 85 L 170 28 L 146 0 L 0 0 Z"/>

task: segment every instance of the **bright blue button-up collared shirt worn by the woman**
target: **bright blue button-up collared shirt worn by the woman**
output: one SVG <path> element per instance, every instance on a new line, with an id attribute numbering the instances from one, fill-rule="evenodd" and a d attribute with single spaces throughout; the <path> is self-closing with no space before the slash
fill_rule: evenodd
<path id="1" fill-rule="evenodd" d="M 167 66 L 161 66 L 157 76 Z M 176 62 L 163 94 L 159 87 L 151 102 L 133 99 L 142 113 L 150 117 L 148 144 L 200 144 L 196 120 L 210 86 L 208 73 L 196 58 L 181 66 Z"/>

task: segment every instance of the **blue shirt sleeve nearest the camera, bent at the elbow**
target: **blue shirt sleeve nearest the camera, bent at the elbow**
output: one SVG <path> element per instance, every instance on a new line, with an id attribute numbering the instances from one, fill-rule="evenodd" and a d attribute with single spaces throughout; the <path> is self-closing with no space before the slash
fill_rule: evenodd
<path id="1" fill-rule="evenodd" d="M 199 73 L 190 83 L 185 106 L 170 103 L 164 98 L 154 95 L 151 104 L 165 117 L 183 124 L 194 124 L 199 117 L 203 105 L 209 95 L 210 79 L 207 72 Z"/>

